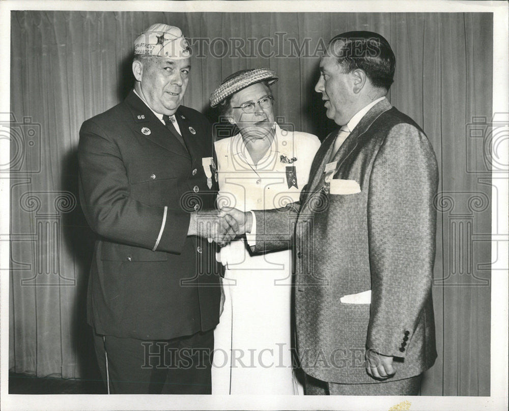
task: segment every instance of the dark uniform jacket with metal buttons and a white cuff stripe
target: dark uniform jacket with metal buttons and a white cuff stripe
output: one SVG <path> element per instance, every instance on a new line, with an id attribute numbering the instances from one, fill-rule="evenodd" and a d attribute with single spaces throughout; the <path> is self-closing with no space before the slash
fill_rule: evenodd
<path id="1" fill-rule="evenodd" d="M 188 107 L 175 116 L 187 149 L 133 91 L 81 126 L 80 202 L 98 234 L 87 311 L 99 334 L 170 339 L 219 322 L 215 245 L 187 236 L 190 212 L 214 208 L 202 165 L 211 126 Z"/>

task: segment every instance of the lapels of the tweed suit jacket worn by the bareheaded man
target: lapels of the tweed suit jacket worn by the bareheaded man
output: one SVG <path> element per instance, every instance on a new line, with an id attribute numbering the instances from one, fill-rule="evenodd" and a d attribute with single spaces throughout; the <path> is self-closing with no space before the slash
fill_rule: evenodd
<path id="1" fill-rule="evenodd" d="M 324 150 L 324 155 L 319 163 L 319 166 L 315 170 L 315 174 L 313 175 L 313 185 L 310 185 L 309 187 L 312 187 L 309 194 L 306 197 L 305 202 L 308 202 L 310 198 L 312 198 L 314 195 L 316 195 L 318 192 L 321 191 L 324 180 L 325 180 L 325 174 L 324 169 L 325 165 L 329 162 L 337 161 L 336 167 L 334 170 L 334 175 L 337 174 L 337 172 L 340 170 L 342 164 L 345 162 L 345 160 L 353 153 L 355 148 L 357 147 L 357 142 L 359 137 L 364 134 L 373 122 L 382 114 L 383 112 L 389 110 L 392 106 L 387 101 L 387 99 L 384 99 L 377 104 L 375 104 L 359 121 L 357 126 L 352 130 L 350 135 L 346 138 L 346 140 L 341 145 L 340 149 L 337 151 L 337 153 L 334 155 L 334 157 L 329 161 L 330 154 L 332 151 L 332 148 L 334 146 L 334 140 L 337 136 L 337 132 L 329 134 L 327 139 L 324 141 L 324 144 L 327 143 L 329 146 L 327 150 Z"/>

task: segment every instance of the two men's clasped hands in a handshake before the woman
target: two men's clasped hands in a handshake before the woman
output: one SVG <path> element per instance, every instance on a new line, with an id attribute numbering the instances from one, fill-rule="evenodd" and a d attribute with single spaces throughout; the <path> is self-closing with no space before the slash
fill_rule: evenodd
<path id="1" fill-rule="evenodd" d="M 220 246 L 227 245 L 235 237 L 250 232 L 252 215 L 231 208 L 223 207 L 217 210 L 203 210 L 191 214 L 188 236 L 199 236 L 215 241 Z"/>

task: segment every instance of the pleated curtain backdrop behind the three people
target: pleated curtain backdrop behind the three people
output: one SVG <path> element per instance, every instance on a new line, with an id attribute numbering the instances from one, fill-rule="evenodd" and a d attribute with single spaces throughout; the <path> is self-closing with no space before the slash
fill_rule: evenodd
<path id="1" fill-rule="evenodd" d="M 387 38 L 397 58 L 391 104 L 425 130 L 440 168 L 439 355 L 422 394 L 489 395 L 491 160 L 483 137 L 492 110 L 492 20 L 488 13 L 12 12 L 11 370 L 95 372 L 84 309 L 94 236 L 76 203 L 78 130 L 127 95 L 133 40 L 144 28 L 165 22 L 191 38 L 185 105 L 215 121 L 208 97 L 225 76 L 270 67 L 280 76 L 279 123 L 321 139 L 335 125 L 314 92 L 320 45 L 369 30 Z"/>

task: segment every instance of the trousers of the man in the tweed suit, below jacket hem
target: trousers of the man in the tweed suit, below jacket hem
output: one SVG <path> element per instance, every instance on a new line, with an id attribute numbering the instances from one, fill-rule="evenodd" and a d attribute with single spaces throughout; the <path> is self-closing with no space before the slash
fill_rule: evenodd
<path id="1" fill-rule="evenodd" d="M 422 374 L 375 384 L 327 383 L 306 374 L 305 395 L 418 395 Z"/>

